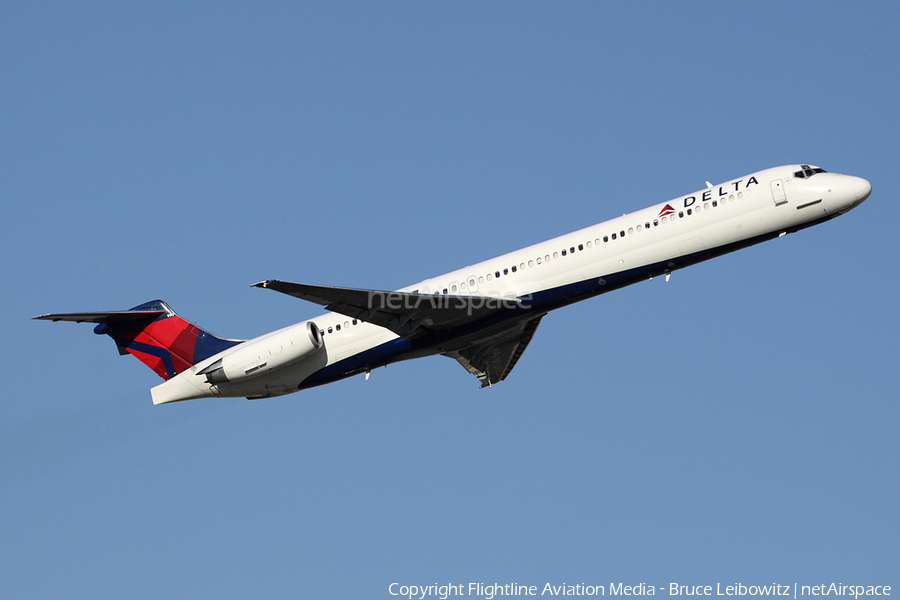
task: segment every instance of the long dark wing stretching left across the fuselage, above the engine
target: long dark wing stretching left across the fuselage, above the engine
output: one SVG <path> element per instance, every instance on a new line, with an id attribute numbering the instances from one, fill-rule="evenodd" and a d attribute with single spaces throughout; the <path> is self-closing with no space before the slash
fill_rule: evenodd
<path id="1" fill-rule="evenodd" d="M 453 329 L 519 305 L 517 298 L 386 292 L 276 279 L 254 283 L 253 287 L 320 304 L 332 312 L 379 325 L 406 339 Z"/>

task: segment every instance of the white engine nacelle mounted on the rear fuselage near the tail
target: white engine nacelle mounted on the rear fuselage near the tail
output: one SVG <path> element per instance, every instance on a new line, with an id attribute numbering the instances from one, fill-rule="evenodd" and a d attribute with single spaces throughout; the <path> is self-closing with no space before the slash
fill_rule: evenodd
<path id="1" fill-rule="evenodd" d="M 210 384 L 249 379 L 303 360 L 323 343 L 316 324 L 304 321 L 244 342 L 197 374 Z"/>

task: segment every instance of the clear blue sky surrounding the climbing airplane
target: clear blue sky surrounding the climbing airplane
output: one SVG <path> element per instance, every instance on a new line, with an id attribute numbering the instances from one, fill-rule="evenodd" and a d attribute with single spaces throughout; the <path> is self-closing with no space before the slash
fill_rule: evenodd
<path id="1" fill-rule="evenodd" d="M 391 582 L 900 592 L 893 2 L 7 2 L 0 595 L 390 598 Z M 161 380 L 46 312 L 228 337 L 751 171 L 860 208 L 283 398 Z"/>

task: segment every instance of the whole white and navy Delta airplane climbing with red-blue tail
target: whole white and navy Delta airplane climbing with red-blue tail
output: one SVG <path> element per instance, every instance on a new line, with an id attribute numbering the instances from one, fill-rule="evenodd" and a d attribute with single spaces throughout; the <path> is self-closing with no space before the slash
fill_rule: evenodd
<path id="1" fill-rule="evenodd" d="M 166 381 L 154 404 L 268 398 L 401 360 L 443 354 L 482 387 L 503 381 L 551 310 L 844 214 L 872 191 L 812 165 L 766 169 L 389 292 L 253 284 L 328 309 L 251 340 L 216 337 L 161 300 L 131 310 L 46 314 L 97 323 Z"/>

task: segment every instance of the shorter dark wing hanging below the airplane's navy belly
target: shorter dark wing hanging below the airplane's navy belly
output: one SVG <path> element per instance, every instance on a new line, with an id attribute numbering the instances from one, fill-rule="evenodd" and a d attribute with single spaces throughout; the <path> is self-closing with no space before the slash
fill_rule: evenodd
<path id="1" fill-rule="evenodd" d="M 542 318 L 543 315 L 525 321 L 493 338 L 444 356 L 455 358 L 466 371 L 478 378 L 481 387 L 493 385 L 506 379 L 516 366 Z"/>

